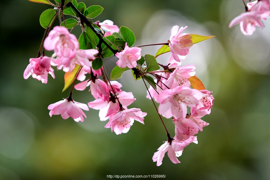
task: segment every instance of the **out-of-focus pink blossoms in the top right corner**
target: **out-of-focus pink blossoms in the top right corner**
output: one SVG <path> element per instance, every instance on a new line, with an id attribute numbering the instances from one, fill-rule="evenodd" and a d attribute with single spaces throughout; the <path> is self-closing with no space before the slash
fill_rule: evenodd
<path id="1" fill-rule="evenodd" d="M 243 0 L 243 2 L 246 0 Z M 266 20 L 270 16 L 270 1 L 269 0 L 257 0 L 245 4 L 246 11 L 241 15 L 235 17 L 229 24 L 229 28 L 233 25 L 240 23 L 241 32 L 244 35 L 252 35 L 256 30 L 255 26 L 264 28 L 262 19 Z"/>

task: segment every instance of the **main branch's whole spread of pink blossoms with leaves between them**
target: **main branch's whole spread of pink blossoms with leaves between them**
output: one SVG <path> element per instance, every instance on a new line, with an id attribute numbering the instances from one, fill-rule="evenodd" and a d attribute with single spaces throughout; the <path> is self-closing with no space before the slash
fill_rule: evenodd
<path id="1" fill-rule="evenodd" d="M 164 154 L 168 152 L 168 156 L 173 163 L 180 163 L 176 157 L 182 155 L 184 147 L 188 144 L 197 143 L 197 137 L 194 135 L 208 125 L 200 118 L 210 114 L 211 106 L 214 104 L 211 91 L 203 88 L 196 89 L 196 83 L 201 83 L 200 80 L 193 80 L 195 86 L 191 85 L 190 78 L 195 76 L 196 66 L 193 64 L 181 66 L 181 60 L 185 59 L 189 54 L 189 49 L 193 46 L 192 35 L 182 33 L 187 26 L 180 29 L 179 26 L 173 26 L 171 29 L 170 40 L 163 43 L 161 47 L 163 49 L 157 52 L 158 55 L 171 52 L 168 64 L 162 65 L 158 64 L 155 59 L 158 55 L 156 57 L 149 54 L 141 55 L 142 49 L 140 47 L 147 45 L 131 47 L 135 42 L 135 36 L 130 29 L 124 26 L 119 29 L 110 20 L 92 23 L 87 19 L 89 14 L 93 18 L 91 7 L 88 7 L 86 11 L 83 8 L 79 11 L 74 6 L 74 2 L 76 4 L 76 1 L 73 0 L 65 5 L 58 2 L 58 6 L 54 5 L 56 8 L 52 10 L 58 10 L 57 13 L 60 13 L 64 7 L 73 8 L 77 13 L 76 18 L 79 20 L 77 24 L 73 24 L 75 24 L 74 26 L 80 24 L 82 29 L 79 41 L 75 35 L 70 34 L 66 27 L 63 27 L 63 25 L 66 25 L 60 22 L 61 26 L 55 26 L 48 32 L 43 44 L 44 49 L 53 50 L 54 54 L 52 57 L 47 57 L 44 55 L 44 51 L 40 55 L 39 50 L 38 57 L 30 58 L 30 64 L 23 74 L 24 78 L 27 79 L 32 75 L 33 78 L 41 80 L 42 83 L 47 83 L 48 73 L 55 78 L 52 66 L 56 66 L 58 70 L 62 69 L 66 73 L 65 86 L 68 87 L 73 81 L 74 83 L 67 98 L 48 106 L 49 115 L 60 114 L 63 119 L 71 117 L 76 122 L 83 122 L 83 116 L 85 118 L 86 116 L 82 110 L 88 111 L 89 108 L 92 108 L 99 110 L 101 121 L 109 119 L 105 128 L 111 128 L 112 132 L 122 134 L 129 131 L 134 120 L 144 124 L 144 117 L 147 115 L 139 108 L 128 109 L 128 106 L 136 100 L 132 92 L 122 91 L 122 85 L 117 81 L 112 81 L 114 80 L 112 74 L 115 69 L 118 78 L 120 78 L 119 74 L 121 75 L 125 70 L 133 70 L 136 79 L 143 78 L 143 81 L 145 79 L 151 85 L 150 88 L 146 86 L 146 97 L 152 99 L 153 103 L 155 100 L 160 104 L 157 109 L 158 113 L 165 118 L 172 118 L 175 124 L 175 136 L 173 138 L 170 137 L 164 125 L 168 140 L 154 154 L 153 161 L 157 162 L 157 166 L 160 166 Z M 95 11 L 97 11 L 97 8 L 102 7 L 95 6 Z M 52 19 L 57 17 L 57 13 Z M 51 26 L 48 24 L 47 29 L 51 29 Z M 85 26 L 87 27 L 85 28 Z M 199 41 L 211 37 L 200 36 Z M 103 63 L 100 64 L 99 62 L 103 62 L 102 58 L 110 57 L 113 54 L 118 58 L 118 61 L 116 62 L 117 66 L 111 73 L 112 80 L 110 80 Z M 160 66 L 164 70 L 159 70 Z M 89 79 L 86 79 L 86 74 L 90 75 Z M 67 79 L 66 75 L 69 76 Z M 149 75 L 154 76 L 154 79 Z M 113 77 L 115 78 L 114 75 Z M 76 80 L 81 82 L 75 85 Z M 73 88 L 83 91 L 88 86 L 90 86 L 89 91 L 91 91 L 95 100 L 87 105 L 73 101 Z M 190 111 L 190 114 L 188 114 L 188 111 Z M 162 118 L 161 121 L 163 122 Z"/>

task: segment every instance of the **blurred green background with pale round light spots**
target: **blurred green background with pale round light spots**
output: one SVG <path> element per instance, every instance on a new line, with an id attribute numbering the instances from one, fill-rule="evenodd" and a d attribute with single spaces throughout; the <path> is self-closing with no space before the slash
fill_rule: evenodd
<path id="1" fill-rule="evenodd" d="M 79 0 L 80 1 L 80 0 Z M 166 179 L 270 179 L 270 20 L 251 37 L 229 22 L 244 11 L 242 0 L 85 0 L 86 6 L 101 5 L 93 19 L 112 20 L 129 27 L 136 45 L 162 43 L 174 25 L 188 26 L 185 33 L 215 35 L 195 44 L 182 64 L 197 66 L 215 98 L 210 123 L 199 132 L 198 145 L 187 146 L 173 164 L 167 153 L 160 167 L 154 152 L 166 141 L 166 133 L 146 89 L 126 72 L 119 81 L 137 100 L 130 107 L 147 112 L 145 125 L 135 122 L 127 134 L 104 128 L 97 110 L 85 112 L 85 122 L 49 117 L 49 104 L 67 98 L 62 93 L 64 72 L 55 70 L 48 83 L 23 72 L 29 58 L 37 55 L 44 30 L 40 14 L 47 8 L 27 0 L 0 1 L 0 179 L 107 179 L 107 175 L 166 175 Z M 55 22 L 57 26 L 58 22 Z M 79 37 L 80 28 L 74 29 Z M 159 47 L 143 48 L 155 54 Z M 50 55 L 52 52 L 47 52 Z M 104 60 L 110 72 L 115 57 Z M 158 61 L 168 61 L 162 55 Z M 85 91 L 73 92 L 81 103 L 93 101 Z M 165 119 L 171 135 L 174 124 Z"/>

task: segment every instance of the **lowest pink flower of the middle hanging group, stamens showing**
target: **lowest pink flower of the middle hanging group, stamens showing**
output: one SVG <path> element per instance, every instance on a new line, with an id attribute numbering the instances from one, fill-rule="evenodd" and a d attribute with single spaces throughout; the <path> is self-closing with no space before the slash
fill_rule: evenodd
<path id="1" fill-rule="evenodd" d="M 120 110 L 113 116 L 110 116 L 110 121 L 107 123 L 105 128 L 111 128 L 117 135 L 127 133 L 130 127 L 133 125 L 134 120 L 144 124 L 144 116 L 147 113 L 143 113 L 138 108 L 131 108 L 128 110 Z"/>

